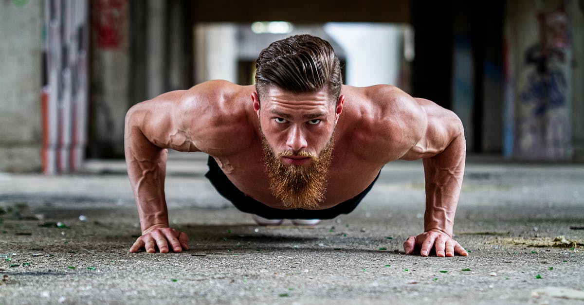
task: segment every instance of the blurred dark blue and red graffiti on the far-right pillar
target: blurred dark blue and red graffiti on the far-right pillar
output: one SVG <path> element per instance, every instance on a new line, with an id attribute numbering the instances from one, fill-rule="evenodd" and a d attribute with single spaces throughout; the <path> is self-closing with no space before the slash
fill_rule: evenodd
<path id="1" fill-rule="evenodd" d="M 567 93 L 568 16 L 560 6 L 537 13 L 538 41 L 524 53 L 527 65 L 519 91 L 516 152 L 524 160 L 569 158 Z"/>

